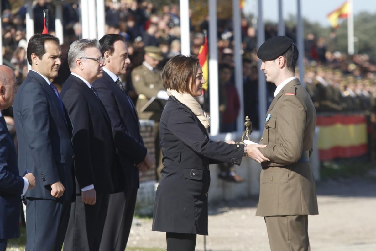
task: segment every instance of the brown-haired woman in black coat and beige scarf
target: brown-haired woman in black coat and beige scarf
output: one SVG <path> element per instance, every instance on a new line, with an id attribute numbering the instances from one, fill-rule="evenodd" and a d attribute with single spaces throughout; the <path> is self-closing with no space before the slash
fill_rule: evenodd
<path id="1" fill-rule="evenodd" d="M 244 145 L 209 139 L 210 118 L 194 99 L 205 83 L 195 56 L 171 58 L 162 79 L 170 97 L 159 123 L 164 168 L 152 230 L 167 233 L 167 251 L 194 251 L 196 234 L 208 235 L 209 164 L 240 165 Z"/>

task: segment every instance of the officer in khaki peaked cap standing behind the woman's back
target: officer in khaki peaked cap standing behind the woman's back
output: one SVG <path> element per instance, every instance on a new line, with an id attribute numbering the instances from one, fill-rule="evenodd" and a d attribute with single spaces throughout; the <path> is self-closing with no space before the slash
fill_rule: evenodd
<path id="1" fill-rule="evenodd" d="M 159 147 L 159 120 L 168 95 L 163 87 L 161 71 L 156 69 L 163 60 L 161 49 L 155 46 L 144 48 L 144 62 L 131 72 L 132 83 L 138 94 L 136 110 L 140 119 L 154 120 L 155 163 L 158 180 L 161 178 L 162 152 Z"/>

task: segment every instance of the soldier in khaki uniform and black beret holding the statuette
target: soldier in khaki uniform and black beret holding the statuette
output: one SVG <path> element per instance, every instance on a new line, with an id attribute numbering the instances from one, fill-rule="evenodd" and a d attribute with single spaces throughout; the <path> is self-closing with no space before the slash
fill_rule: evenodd
<path id="1" fill-rule="evenodd" d="M 318 214 L 315 179 L 309 163 L 316 112 L 309 94 L 294 76 L 298 50 L 286 36 L 268 39 L 257 56 L 268 82 L 277 88 L 257 149 L 249 157 L 261 163 L 257 216 L 265 219 L 271 251 L 308 251 L 308 214 Z M 263 161 L 258 154 L 269 161 Z"/>

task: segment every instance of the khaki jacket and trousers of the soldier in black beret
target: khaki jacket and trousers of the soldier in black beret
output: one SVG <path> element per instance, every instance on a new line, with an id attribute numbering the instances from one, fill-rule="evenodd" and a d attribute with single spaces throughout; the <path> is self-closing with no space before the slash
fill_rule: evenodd
<path id="1" fill-rule="evenodd" d="M 262 163 L 256 215 L 265 217 L 271 250 L 286 250 L 283 243 L 295 246 L 288 250 L 306 250 L 309 243 L 291 243 L 288 236 L 278 236 L 284 231 L 277 228 L 281 222 L 294 222 L 290 226 L 295 229 L 286 229 L 306 235 L 308 241 L 307 215 L 318 214 L 315 179 L 308 160 L 316 126 L 315 108 L 305 88 L 294 79 L 273 99 L 267 113 L 260 141 L 267 147 L 260 151 L 270 161 Z"/>

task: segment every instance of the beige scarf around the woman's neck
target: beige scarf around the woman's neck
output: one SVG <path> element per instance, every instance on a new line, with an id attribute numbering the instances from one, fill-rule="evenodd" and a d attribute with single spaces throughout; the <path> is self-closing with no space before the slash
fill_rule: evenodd
<path id="1" fill-rule="evenodd" d="M 179 100 L 180 103 L 188 106 L 188 108 L 190 108 L 194 115 L 199 118 L 202 125 L 206 129 L 209 128 L 210 117 L 205 113 L 205 111 L 202 110 L 201 105 L 196 101 L 196 99 L 194 99 L 194 97 L 192 97 L 188 93 L 178 93 L 177 91 L 171 89 L 167 89 L 167 95 L 176 97 L 176 99 Z"/>

